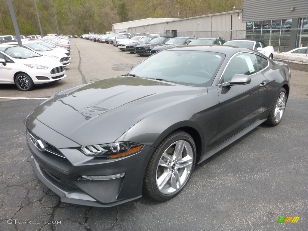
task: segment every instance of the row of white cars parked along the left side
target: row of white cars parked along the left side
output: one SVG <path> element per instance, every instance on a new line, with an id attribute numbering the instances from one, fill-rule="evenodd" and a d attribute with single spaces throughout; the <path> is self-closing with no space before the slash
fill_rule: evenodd
<path id="1" fill-rule="evenodd" d="M 66 36 L 45 36 L 0 44 L 0 84 L 16 84 L 30 91 L 36 84 L 51 83 L 66 77 L 70 65 L 70 40 Z"/>

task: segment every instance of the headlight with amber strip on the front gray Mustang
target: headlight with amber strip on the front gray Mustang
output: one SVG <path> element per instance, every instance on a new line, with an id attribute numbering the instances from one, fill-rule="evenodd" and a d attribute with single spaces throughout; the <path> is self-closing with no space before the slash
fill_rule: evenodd
<path id="1" fill-rule="evenodd" d="M 111 144 L 89 145 L 77 148 L 87 156 L 102 156 L 109 159 L 129 156 L 139 152 L 143 145 L 131 142 L 115 142 Z"/>

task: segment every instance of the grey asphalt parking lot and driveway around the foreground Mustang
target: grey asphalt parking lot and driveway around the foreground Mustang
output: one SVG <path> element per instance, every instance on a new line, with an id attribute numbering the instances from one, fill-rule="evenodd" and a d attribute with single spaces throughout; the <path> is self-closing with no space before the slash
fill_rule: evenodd
<path id="1" fill-rule="evenodd" d="M 30 92 L 0 86 L 0 230 L 308 230 L 308 67 L 296 64 L 290 64 L 291 92 L 282 122 L 258 126 L 197 165 L 172 200 L 143 197 L 107 209 L 60 202 L 26 162 L 23 119 L 43 98 L 125 74 L 145 59 L 79 38 L 71 39 L 71 47 L 71 65 L 61 81 Z M 280 224 L 279 217 L 300 219 Z"/>

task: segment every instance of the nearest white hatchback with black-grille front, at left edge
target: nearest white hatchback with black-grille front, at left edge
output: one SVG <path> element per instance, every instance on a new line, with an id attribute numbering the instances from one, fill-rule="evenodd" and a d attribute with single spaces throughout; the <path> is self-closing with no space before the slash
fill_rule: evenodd
<path id="1" fill-rule="evenodd" d="M 66 77 L 64 66 L 56 59 L 24 47 L 0 45 L 0 84 L 16 84 L 30 91 L 35 84 L 59 81 Z"/>

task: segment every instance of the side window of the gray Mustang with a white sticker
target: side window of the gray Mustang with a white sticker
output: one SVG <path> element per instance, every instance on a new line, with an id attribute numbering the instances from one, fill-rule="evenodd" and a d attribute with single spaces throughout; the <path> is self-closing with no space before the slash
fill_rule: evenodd
<path id="1" fill-rule="evenodd" d="M 252 75 L 267 66 L 267 60 L 252 53 L 239 53 L 229 61 L 220 83 L 229 82 L 233 75 Z"/>

